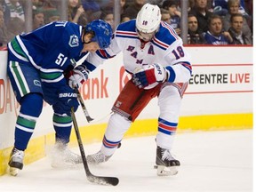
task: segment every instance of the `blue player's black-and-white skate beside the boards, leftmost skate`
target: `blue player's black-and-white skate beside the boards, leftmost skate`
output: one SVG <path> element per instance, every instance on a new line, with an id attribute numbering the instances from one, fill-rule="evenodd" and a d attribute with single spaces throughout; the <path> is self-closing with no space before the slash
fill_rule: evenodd
<path id="1" fill-rule="evenodd" d="M 16 176 L 19 173 L 19 170 L 23 168 L 23 158 L 24 151 L 18 150 L 17 148 L 12 148 L 12 152 L 9 160 L 9 172 L 12 176 Z"/>

